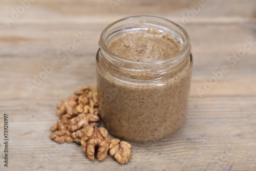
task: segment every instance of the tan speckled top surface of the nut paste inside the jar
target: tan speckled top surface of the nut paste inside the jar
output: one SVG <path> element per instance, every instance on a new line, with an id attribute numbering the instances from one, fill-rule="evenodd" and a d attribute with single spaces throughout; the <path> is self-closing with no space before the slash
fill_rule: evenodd
<path id="1" fill-rule="evenodd" d="M 127 60 L 157 61 L 179 53 L 181 46 L 173 37 L 157 31 L 133 31 L 117 37 L 109 49 Z"/>

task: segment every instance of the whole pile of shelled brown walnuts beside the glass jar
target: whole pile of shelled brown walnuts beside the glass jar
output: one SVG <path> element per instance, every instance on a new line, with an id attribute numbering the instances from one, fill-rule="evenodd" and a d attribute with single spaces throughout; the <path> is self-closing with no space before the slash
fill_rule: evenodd
<path id="1" fill-rule="evenodd" d="M 56 115 L 60 119 L 51 127 L 51 140 L 81 144 L 89 160 L 94 160 L 95 146 L 98 146 L 99 161 L 106 159 L 110 152 L 119 163 L 127 163 L 131 144 L 117 138 L 109 139 L 108 131 L 97 127 L 100 120 L 97 87 L 83 86 L 74 94 L 58 103 Z"/>

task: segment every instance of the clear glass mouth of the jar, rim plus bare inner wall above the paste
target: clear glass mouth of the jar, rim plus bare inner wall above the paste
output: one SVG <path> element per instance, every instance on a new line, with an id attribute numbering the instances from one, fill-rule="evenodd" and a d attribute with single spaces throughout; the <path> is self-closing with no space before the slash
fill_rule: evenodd
<path id="1" fill-rule="evenodd" d="M 131 21 L 131 22 L 130 22 Z M 125 24 L 126 22 L 126 24 Z M 127 23 L 130 22 L 130 23 Z M 160 23 L 161 22 L 161 23 Z M 113 28 L 114 27 L 114 28 Z M 150 30 L 156 29 L 161 33 L 166 33 L 176 40 L 178 40 L 179 44 L 182 45 L 182 49 L 177 54 L 170 56 L 163 60 L 156 60 L 156 61 L 133 61 L 124 59 L 108 48 L 106 41 L 111 34 L 114 34 L 118 31 L 132 31 L 132 30 Z M 122 18 L 117 20 L 116 22 L 107 26 L 100 35 L 99 41 L 100 49 L 104 51 L 104 53 L 108 56 L 111 56 L 115 60 L 119 62 L 129 63 L 131 65 L 152 65 L 152 64 L 159 64 L 159 63 L 166 63 L 170 61 L 181 59 L 182 54 L 186 54 L 186 51 L 190 48 L 190 42 L 187 32 L 178 24 L 172 22 L 171 20 L 156 17 L 156 16 L 147 16 L 147 15 L 138 15 L 138 16 L 130 16 L 126 18 Z"/>

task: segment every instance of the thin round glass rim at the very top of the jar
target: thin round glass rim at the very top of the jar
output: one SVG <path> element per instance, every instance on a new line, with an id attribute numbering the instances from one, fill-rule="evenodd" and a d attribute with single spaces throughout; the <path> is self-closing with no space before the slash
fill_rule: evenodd
<path id="1" fill-rule="evenodd" d="M 163 60 L 156 60 L 156 61 L 133 61 L 133 60 L 128 60 L 128 59 L 124 59 L 124 58 L 121 58 L 120 56 L 116 55 L 115 53 L 113 53 L 109 48 L 108 46 L 106 45 L 106 42 L 103 41 L 105 39 L 105 36 L 106 36 L 106 32 L 113 26 L 115 26 L 116 24 L 120 23 L 120 22 L 123 22 L 124 20 L 129 20 L 129 19 L 134 19 L 134 18 L 151 18 L 151 19 L 157 19 L 157 20 L 160 20 L 162 22 L 167 22 L 169 24 L 172 24 L 174 25 L 177 29 L 180 29 L 182 31 L 182 33 L 184 34 L 184 45 L 183 45 L 183 48 L 181 49 L 180 52 L 178 52 L 177 54 L 173 55 L 173 56 L 170 56 L 166 59 L 163 59 Z M 150 15 L 136 15 L 136 16 L 130 16 L 130 17 L 125 17 L 125 18 L 122 18 L 122 19 L 119 19 L 119 20 L 116 20 L 115 22 L 111 23 L 110 25 L 108 25 L 101 33 L 100 35 L 100 41 L 99 41 L 99 46 L 100 46 L 100 49 L 102 49 L 104 51 L 104 53 L 108 54 L 109 56 L 111 56 L 112 58 L 114 58 L 115 60 L 118 60 L 120 62 L 124 62 L 124 63 L 130 63 L 130 64 L 142 64 L 142 65 L 146 65 L 146 64 L 159 64 L 159 63 L 166 63 L 166 62 L 169 62 L 169 61 L 174 61 L 176 59 L 178 59 L 182 54 L 186 53 L 186 51 L 189 49 L 190 47 L 190 42 L 189 42 L 189 37 L 188 37 L 188 34 L 187 32 L 185 31 L 185 29 L 183 27 L 181 27 L 180 25 L 172 22 L 171 20 L 169 19 L 165 19 L 165 18 L 162 18 L 162 17 L 157 17 L 157 16 L 150 16 Z"/>

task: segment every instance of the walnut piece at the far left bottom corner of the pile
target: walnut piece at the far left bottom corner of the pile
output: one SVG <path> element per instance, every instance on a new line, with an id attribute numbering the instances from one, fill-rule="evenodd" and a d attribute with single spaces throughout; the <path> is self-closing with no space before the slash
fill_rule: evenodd
<path id="1" fill-rule="evenodd" d="M 51 127 L 51 131 L 53 132 L 50 136 L 51 140 L 58 143 L 73 142 L 73 139 L 71 138 L 70 132 L 68 130 L 68 124 L 65 124 L 61 120 L 58 120 L 57 123 Z"/>

